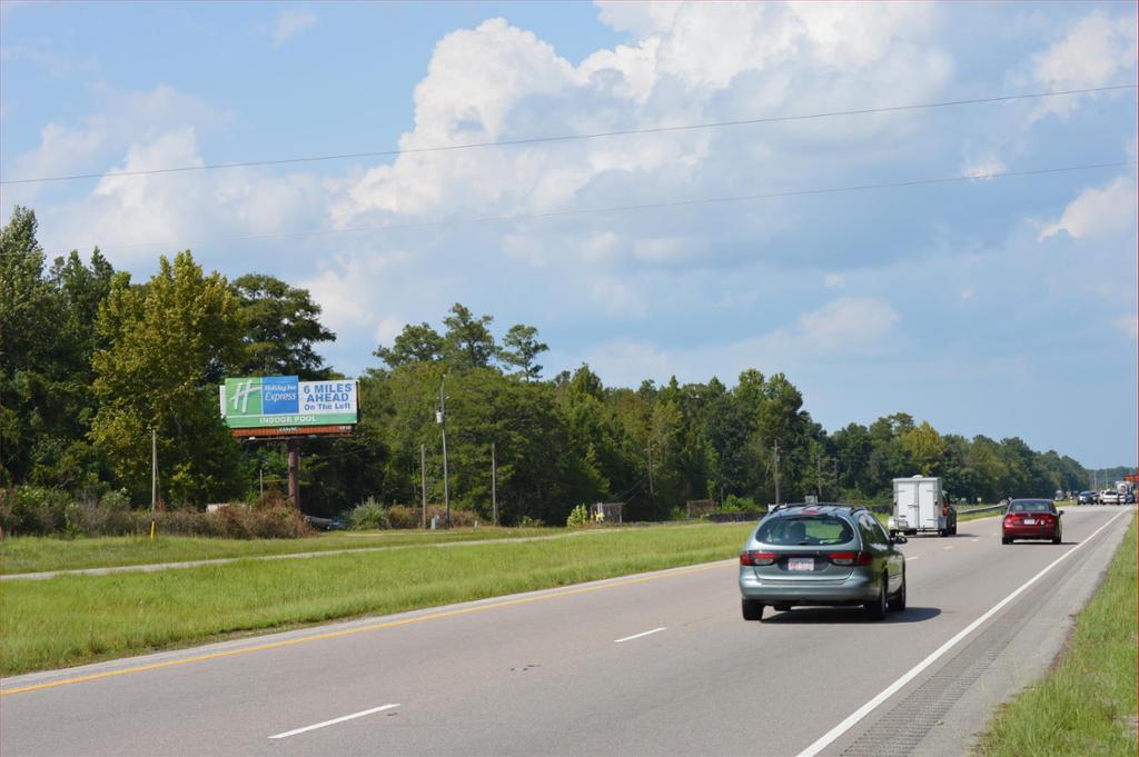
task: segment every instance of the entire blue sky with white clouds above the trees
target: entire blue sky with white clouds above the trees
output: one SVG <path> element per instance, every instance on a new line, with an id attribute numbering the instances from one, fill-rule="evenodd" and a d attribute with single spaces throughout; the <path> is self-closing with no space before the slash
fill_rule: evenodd
<path id="1" fill-rule="evenodd" d="M 349 376 L 460 302 L 546 377 L 754 368 L 830 431 L 1134 466 L 1136 14 L 2 0 L 0 208 L 136 280 L 191 249 L 304 287 Z"/>

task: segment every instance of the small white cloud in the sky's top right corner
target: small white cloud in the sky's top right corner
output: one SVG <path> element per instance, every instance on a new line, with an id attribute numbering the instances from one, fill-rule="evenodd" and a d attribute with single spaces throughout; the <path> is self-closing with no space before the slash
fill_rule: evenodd
<path id="1" fill-rule="evenodd" d="M 1038 54 L 1032 60 L 1032 76 L 1049 89 L 1083 89 L 1124 83 L 1120 75 L 1136 67 L 1139 55 L 1136 16 L 1109 17 L 1093 10 L 1081 18 L 1068 34 Z M 1134 76 L 1128 77 L 1133 81 Z M 1066 116 L 1080 104 L 1080 97 L 1043 100 L 1035 110 Z"/>

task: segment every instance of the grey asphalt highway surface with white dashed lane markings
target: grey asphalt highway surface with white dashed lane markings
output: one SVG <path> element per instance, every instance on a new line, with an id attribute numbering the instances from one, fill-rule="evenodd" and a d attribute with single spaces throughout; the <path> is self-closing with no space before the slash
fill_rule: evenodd
<path id="1" fill-rule="evenodd" d="M 1060 545 L 1003 546 L 995 518 L 911 538 L 882 623 L 746 623 L 724 561 L 7 678 L 0 752 L 960 755 L 1134 508 L 1066 510 Z"/>

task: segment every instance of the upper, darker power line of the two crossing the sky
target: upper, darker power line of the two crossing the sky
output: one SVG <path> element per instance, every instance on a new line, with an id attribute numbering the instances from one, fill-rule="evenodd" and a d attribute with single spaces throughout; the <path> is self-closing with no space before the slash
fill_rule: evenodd
<path id="1" fill-rule="evenodd" d="M 1116 90 L 1133 90 L 1137 84 L 1117 84 L 1113 87 L 1096 87 L 1089 89 L 1060 90 L 1051 92 L 1029 92 L 1023 94 L 1002 94 L 1000 97 L 972 98 L 967 100 L 944 100 L 941 102 L 919 102 L 916 105 L 893 105 L 879 108 L 858 108 L 854 110 L 828 110 L 822 113 L 810 113 L 789 116 L 762 116 L 759 118 L 741 118 L 739 121 L 716 121 L 712 123 L 683 124 L 679 126 L 647 126 L 644 129 L 622 129 L 615 131 L 600 131 L 588 134 L 556 134 L 551 137 L 530 137 L 524 139 L 505 139 L 489 142 L 466 142 L 462 145 L 439 145 L 434 147 L 411 147 L 399 150 L 368 150 L 363 153 L 341 153 L 336 155 L 313 155 L 308 157 L 277 158 L 271 161 L 241 161 L 235 163 L 210 163 L 206 165 L 185 165 L 169 168 L 150 168 L 147 171 L 114 171 L 109 173 L 77 173 L 65 176 L 40 176 L 34 179 L 8 179 L 0 181 L 3 184 L 33 184 L 54 181 L 76 181 L 80 179 L 110 179 L 122 176 L 148 176 L 163 173 L 189 173 L 196 171 L 213 171 L 218 168 L 249 168 L 254 166 L 289 165 L 294 163 L 321 163 L 328 161 L 346 161 L 352 158 L 371 157 L 395 157 L 400 155 L 415 155 L 421 153 L 446 153 L 452 150 L 469 150 L 486 147 L 510 147 L 518 145 L 538 145 L 542 142 L 568 142 L 585 139 L 600 139 L 606 137 L 626 137 L 630 134 L 664 134 L 682 131 L 696 131 L 700 129 L 722 129 L 728 126 L 747 126 L 755 124 L 786 123 L 790 121 L 811 121 L 817 118 L 834 118 L 838 116 L 862 116 L 876 113 L 901 113 L 906 110 L 929 110 L 933 108 L 949 108 L 962 105 L 991 105 L 994 102 L 1010 102 L 1014 100 L 1033 100 L 1047 97 L 1068 97 L 1073 94 L 1093 94 L 1096 92 L 1111 92 Z"/>

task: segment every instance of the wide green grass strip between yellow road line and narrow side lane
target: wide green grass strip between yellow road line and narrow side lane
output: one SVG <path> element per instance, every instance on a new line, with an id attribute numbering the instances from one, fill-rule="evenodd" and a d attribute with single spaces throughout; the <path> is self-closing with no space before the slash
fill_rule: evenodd
<path id="1" fill-rule="evenodd" d="M 0 673 L 15 675 L 738 554 L 754 524 L 407 549 L 162 573 L 6 582 Z"/>

